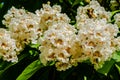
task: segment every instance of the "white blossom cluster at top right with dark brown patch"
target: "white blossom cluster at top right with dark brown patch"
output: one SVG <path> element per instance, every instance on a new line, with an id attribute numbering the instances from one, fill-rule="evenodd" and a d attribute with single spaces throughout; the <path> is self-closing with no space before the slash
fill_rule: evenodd
<path id="1" fill-rule="evenodd" d="M 77 9 L 76 22 L 84 22 L 86 19 L 106 19 L 110 20 L 111 13 L 105 11 L 96 0 L 90 1 L 86 6 L 80 6 Z M 80 23 L 79 23 L 80 24 Z"/>

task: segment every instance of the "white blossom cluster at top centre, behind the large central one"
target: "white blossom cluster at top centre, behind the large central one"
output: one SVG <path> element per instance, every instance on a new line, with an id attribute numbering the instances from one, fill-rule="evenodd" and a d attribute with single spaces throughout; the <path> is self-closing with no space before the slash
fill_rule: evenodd
<path id="1" fill-rule="evenodd" d="M 50 6 L 50 3 L 43 4 L 43 8 L 36 10 L 35 13 L 41 18 L 40 26 L 44 31 L 55 23 L 70 22 L 69 17 L 65 13 L 61 13 L 61 6 L 59 5 Z"/>

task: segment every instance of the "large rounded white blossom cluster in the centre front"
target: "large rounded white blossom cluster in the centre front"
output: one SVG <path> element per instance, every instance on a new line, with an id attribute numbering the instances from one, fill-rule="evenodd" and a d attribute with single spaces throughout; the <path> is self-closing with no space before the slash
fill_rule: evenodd
<path id="1" fill-rule="evenodd" d="M 47 62 L 56 61 L 58 70 L 66 70 L 71 66 L 69 48 L 76 40 L 75 28 L 70 24 L 59 22 L 56 23 L 45 31 L 43 38 L 41 38 L 40 46 L 40 60 L 44 65 Z M 65 64 L 64 67 L 60 66 Z"/>

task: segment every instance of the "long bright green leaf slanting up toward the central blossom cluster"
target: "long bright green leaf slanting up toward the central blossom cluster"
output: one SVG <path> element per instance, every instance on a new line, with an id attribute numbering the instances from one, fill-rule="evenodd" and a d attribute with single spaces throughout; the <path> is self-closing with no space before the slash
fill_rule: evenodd
<path id="1" fill-rule="evenodd" d="M 28 80 L 32 75 L 35 74 L 40 68 L 44 67 L 40 60 L 33 61 L 28 65 L 24 71 L 17 77 L 16 80 Z"/>

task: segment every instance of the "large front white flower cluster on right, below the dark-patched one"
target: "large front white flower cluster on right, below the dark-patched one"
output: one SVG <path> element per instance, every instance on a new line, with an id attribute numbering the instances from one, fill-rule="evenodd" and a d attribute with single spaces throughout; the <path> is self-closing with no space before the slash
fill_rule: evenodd
<path id="1" fill-rule="evenodd" d="M 78 39 L 83 48 L 83 54 L 95 66 L 108 60 L 116 50 L 113 44 L 119 31 L 118 27 L 107 23 L 106 19 L 86 19 L 79 23 Z"/>

